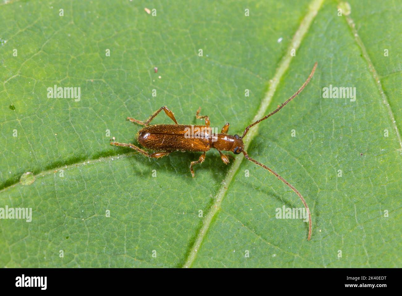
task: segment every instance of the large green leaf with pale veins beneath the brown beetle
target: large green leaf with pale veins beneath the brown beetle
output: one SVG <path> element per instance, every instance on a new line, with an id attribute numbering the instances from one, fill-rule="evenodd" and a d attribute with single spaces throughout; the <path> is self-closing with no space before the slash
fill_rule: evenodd
<path id="1" fill-rule="evenodd" d="M 0 266 L 401 267 L 401 7 L 348 4 L 0 4 L 0 211 L 32 208 L 31 222 L 0 220 Z M 242 134 L 316 61 L 303 92 L 246 136 L 248 154 L 305 197 L 310 241 L 301 219 L 275 218 L 303 207 L 297 195 L 242 154 L 226 166 L 207 152 L 193 179 L 200 153 L 109 145 L 135 143 L 126 117 L 163 105 L 184 124 L 201 106 Z M 48 98 L 55 84 L 80 100 Z M 356 100 L 324 98 L 330 85 Z"/>

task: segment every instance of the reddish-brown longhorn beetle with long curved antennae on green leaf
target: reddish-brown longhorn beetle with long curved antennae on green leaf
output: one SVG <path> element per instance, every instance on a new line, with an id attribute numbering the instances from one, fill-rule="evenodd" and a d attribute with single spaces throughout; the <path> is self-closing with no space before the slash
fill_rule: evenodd
<path id="1" fill-rule="evenodd" d="M 133 123 L 138 123 L 140 125 L 145 125 L 144 128 L 140 129 L 138 134 L 137 134 L 137 141 L 139 144 L 142 146 L 154 150 L 156 152 L 149 154 L 145 150 L 133 145 L 133 144 L 126 144 L 126 143 L 119 143 L 119 142 L 111 142 L 111 145 L 115 146 L 120 146 L 120 147 L 129 147 L 137 152 L 141 153 L 144 156 L 147 157 L 153 157 L 153 158 L 160 158 L 163 156 L 166 156 L 174 151 L 178 150 L 185 150 L 185 151 L 201 151 L 203 154 L 199 157 L 197 161 L 192 161 L 190 164 L 190 171 L 191 175 L 194 177 L 194 170 L 193 170 L 193 165 L 202 163 L 205 160 L 205 152 L 207 152 L 211 148 L 215 148 L 218 150 L 219 154 L 221 155 L 221 159 L 225 164 L 229 163 L 229 158 L 225 154 L 223 154 L 221 151 L 231 151 L 234 154 L 240 154 L 243 153 L 244 157 L 247 158 L 248 160 L 254 162 L 255 164 L 258 164 L 259 166 L 262 166 L 264 169 L 268 170 L 271 172 L 273 175 L 275 175 L 278 179 L 283 181 L 287 186 L 289 186 L 295 193 L 300 197 L 301 201 L 304 204 L 304 207 L 306 208 L 308 212 L 308 222 L 309 222 L 309 227 L 308 227 L 308 240 L 311 238 L 311 214 L 310 214 L 310 209 L 307 206 L 306 201 L 304 200 L 303 196 L 301 196 L 300 192 L 297 191 L 295 187 L 293 187 L 289 182 L 287 182 L 285 179 L 283 179 L 281 176 L 279 176 L 275 171 L 270 169 L 268 166 L 265 166 L 264 164 L 258 162 L 257 160 L 251 158 L 248 156 L 246 150 L 244 150 L 244 143 L 243 143 L 243 138 L 246 136 L 248 133 L 248 130 L 250 127 L 256 125 L 257 123 L 260 123 L 261 121 L 267 119 L 271 115 L 274 115 L 277 113 L 279 110 L 281 110 L 287 103 L 289 103 L 292 99 L 294 99 L 308 84 L 312 76 L 314 75 L 314 71 L 317 68 L 317 63 L 314 64 L 314 67 L 308 76 L 306 82 L 297 90 L 297 92 L 291 96 L 285 103 L 280 105 L 275 111 L 272 111 L 265 117 L 257 120 L 256 122 L 248 125 L 246 129 L 243 132 L 243 136 L 239 135 L 228 135 L 227 132 L 229 130 L 229 123 L 226 123 L 222 127 L 222 131 L 220 134 L 211 134 L 211 127 L 210 127 L 210 122 L 209 122 L 209 117 L 204 115 L 200 116 L 199 112 L 201 111 L 201 107 L 198 109 L 195 117 L 197 119 L 204 119 L 205 120 L 205 125 L 185 125 L 185 124 L 178 124 L 176 121 L 176 118 L 174 118 L 173 112 L 168 109 L 168 107 L 164 106 L 161 107 L 159 110 L 157 110 L 154 114 L 148 118 L 147 121 L 140 121 L 134 118 L 127 117 L 127 120 L 133 122 Z M 155 124 L 155 125 L 149 125 L 152 119 L 155 118 L 156 115 L 159 114 L 160 111 L 164 111 L 170 119 L 174 121 L 175 124 Z M 189 135 L 189 131 L 196 131 L 195 134 Z M 197 135 L 197 136 L 196 136 Z"/>

